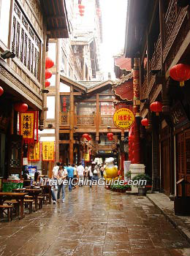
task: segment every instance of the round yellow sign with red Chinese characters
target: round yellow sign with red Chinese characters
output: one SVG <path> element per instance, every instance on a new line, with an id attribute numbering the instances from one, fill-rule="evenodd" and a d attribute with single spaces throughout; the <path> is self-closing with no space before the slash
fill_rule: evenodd
<path id="1" fill-rule="evenodd" d="M 115 127 L 120 129 L 129 129 L 134 123 L 134 114 L 129 108 L 120 108 L 113 115 Z"/>

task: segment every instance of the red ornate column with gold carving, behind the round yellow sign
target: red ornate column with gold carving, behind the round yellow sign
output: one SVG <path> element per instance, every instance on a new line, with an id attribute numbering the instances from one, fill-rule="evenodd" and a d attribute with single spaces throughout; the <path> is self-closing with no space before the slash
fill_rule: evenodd
<path id="1" fill-rule="evenodd" d="M 140 59 L 134 59 L 133 70 L 133 112 L 139 116 L 140 112 Z M 134 164 L 140 164 L 140 126 L 137 117 L 134 119 Z"/>

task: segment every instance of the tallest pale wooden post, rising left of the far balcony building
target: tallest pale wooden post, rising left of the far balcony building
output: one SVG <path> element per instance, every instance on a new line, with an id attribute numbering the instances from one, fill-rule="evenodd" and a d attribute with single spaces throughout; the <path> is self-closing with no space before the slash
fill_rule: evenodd
<path id="1" fill-rule="evenodd" d="M 56 47 L 56 162 L 59 162 L 59 112 L 60 112 L 60 58 L 61 58 L 61 39 L 57 39 Z"/>

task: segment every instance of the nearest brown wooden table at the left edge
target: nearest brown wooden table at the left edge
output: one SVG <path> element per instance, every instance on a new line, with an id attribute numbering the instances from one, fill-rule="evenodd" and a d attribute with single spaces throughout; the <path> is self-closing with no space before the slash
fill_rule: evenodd
<path id="1" fill-rule="evenodd" d="M 18 203 L 20 204 L 20 219 L 23 219 L 24 217 L 23 200 L 27 194 L 28 193 L 23 193 L 23 192 L 0 192 L 0 204 L 3 205 L 4 201 L 8 199 L 17 200 Z M 1 212 L 1 216 L 2 216 L 2 212 Z"/>

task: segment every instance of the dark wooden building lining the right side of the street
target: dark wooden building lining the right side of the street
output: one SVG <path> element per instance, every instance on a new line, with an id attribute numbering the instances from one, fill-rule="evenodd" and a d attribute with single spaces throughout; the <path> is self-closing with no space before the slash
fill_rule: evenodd
<path id="1" fill-rule="evenodd" d="M 153 178 L 153 190 L 175 195 L 176 181 L 190 181 L 190 81 L 180 87 L 170 78 L 176 64 L 190 64 L 189 5 L 175 0 L 129 0 L 125 53 L 140 61 L 141 161 Z M 159 116 L 152 102 L 162 102 Z M 186 184 L 190 195 L 190 185 Z"/>

